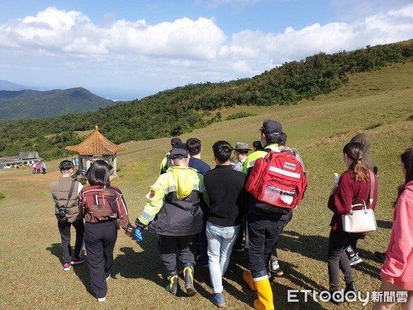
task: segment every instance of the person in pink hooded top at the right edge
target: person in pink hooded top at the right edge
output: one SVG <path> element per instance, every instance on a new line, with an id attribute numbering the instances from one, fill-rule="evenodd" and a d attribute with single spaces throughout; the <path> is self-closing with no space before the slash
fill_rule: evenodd
<path id="1" fill-rule="evenodd" d="M 402 309 L 413 309 L 413 146 L 401 154 L 401 171 L 405 183 L 394 203 L 392 234 L 380 272 L 380 291 L 394 292 L 394 300 L 384 302 L 382 298 L 373 309 L 392 309 L 401 298 Z"/>

